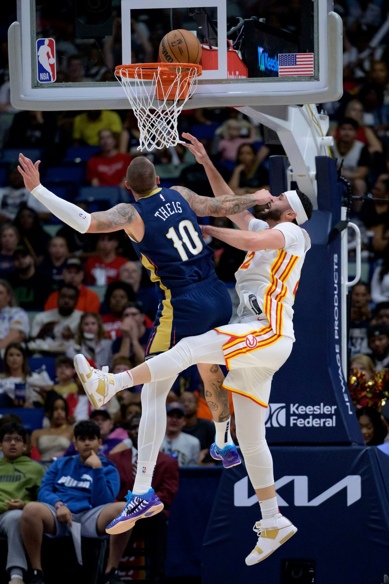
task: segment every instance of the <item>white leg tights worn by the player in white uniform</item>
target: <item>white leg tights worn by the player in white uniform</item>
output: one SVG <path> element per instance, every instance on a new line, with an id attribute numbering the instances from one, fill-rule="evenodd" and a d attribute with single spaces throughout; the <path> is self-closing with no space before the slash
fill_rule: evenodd
<path id="1" fill-rule="evenodd" d="M 201 344 L 199 344 L 199 339 L 201 339 Z M 225 343 L 225 336 L 216 331 L 209 331 L 200 337 L 192 336 L 180 340 L 173 349 L 147 361 L 152 380 L 165 379 L 167 381 L 172 374 L 178 374 L 197 363 L 224 364 L 223 343 Z M 152 383 L 155 382 L 152 381 Z M 237 439 L 246 463 L 248 477 L 254 489 L 271 486 L 274 484 L 274 478 L 272 457 L 265 440 L 266 409 L 255 404 L 251 399 L 235 393 L 233 393 L 233 403 Z M 140 429 L 139 427 L 139 432 Z M 163 436 L 161 442 L 162 440 Z M 134 492 L 136 492 L 135 489 Z"/>

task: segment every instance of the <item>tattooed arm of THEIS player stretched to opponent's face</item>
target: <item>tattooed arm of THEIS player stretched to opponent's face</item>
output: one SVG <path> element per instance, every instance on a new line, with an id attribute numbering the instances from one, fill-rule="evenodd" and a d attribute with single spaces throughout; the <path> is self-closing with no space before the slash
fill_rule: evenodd
<path id="1" fill-rule="evenodd" d="M 172 186 L 171 189 L 178 190 L 198 217 L 236 215 L 254 207 L 254 205 L 266 204 L 273 200 L 271 194 L 264 190 L 254 194 L 224 194 L 212 199 L 211 197 L 202 197 L 184 186 Z"/>

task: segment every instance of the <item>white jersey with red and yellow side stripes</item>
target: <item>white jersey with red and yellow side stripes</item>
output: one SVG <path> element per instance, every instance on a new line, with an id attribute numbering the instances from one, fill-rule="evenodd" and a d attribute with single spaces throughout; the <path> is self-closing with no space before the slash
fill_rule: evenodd
<path id="1" fill-rule="evenodd" d="M 269 225 L 259 219 L 252 219 L 248 225 L 249 231 L 268 228 Z M 294 223 L 279 223 L 273 229 L 283 233 L 285 247 L 248 252 L 235 273 L 240 299 L 238 315 L 244 322 L 268 319 L 275 335 L 295 340 L 292 307 L 311 240 L 307 232 Z M 258 305 L 262 314 L 258 314 Z"/>

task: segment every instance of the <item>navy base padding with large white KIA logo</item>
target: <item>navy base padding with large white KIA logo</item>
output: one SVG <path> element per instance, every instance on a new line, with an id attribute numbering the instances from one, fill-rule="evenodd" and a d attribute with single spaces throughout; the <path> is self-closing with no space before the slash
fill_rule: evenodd
<path id="1" fill-rule="evenodd" d="M 318 584 L 380 584 L 389 571 L 389 457 L 373 446 L 276 446 L 271 453 L 279 509 L 297 533 L 246 566 L 260 506 L 243 463 L 223 472 L 204 538 L 202 584 L 281 584 L 285 559 L 314 561 Z"/>

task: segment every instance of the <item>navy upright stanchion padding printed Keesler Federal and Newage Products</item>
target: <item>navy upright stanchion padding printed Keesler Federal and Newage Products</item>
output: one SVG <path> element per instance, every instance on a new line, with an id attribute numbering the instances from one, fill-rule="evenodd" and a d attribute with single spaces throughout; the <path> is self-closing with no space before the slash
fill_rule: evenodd
<path id="1" fill-rule="evenodd" d="M 283 158 L 271 158 L 271 184 L 275 163 L 281 172 Z M 341 218 L 343 186 L 332 158 L 316 158 L 316 175 L 318 210 L 302 225 L 311 238 L 311 249 L 293 306 L 296 342 L 272 381 L 267 440 L 363 444 L 341 367 L 340 235 L 328 244 L 328 234 Z"/>

